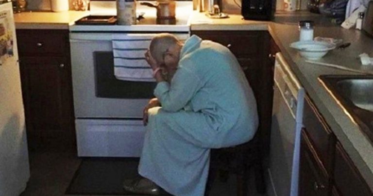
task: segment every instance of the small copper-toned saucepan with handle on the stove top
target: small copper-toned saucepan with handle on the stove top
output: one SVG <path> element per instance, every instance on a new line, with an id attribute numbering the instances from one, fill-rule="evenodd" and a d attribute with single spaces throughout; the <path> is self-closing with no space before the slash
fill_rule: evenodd
<path id="1" fill-rule="evenodd" d="M 141 5 L 157 8 L 158 19 L 173 19 L 175 18 L 176 3 L 173 0 L 157 1 L 155 4 L 150 2 L 141 2 Z"/>

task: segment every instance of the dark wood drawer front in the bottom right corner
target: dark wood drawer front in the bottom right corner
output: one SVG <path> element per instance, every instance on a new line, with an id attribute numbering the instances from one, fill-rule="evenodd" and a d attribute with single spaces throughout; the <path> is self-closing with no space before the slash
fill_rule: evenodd
<path id="1" fill-rule="evenodd" d="M 334 183 L 340 196 L 372 196 L 367 183 L 340 143 L 337 143 Z"/>

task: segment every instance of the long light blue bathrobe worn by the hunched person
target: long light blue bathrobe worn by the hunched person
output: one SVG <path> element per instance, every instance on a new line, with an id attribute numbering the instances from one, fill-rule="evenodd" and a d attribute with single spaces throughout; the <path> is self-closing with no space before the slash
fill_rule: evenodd
<path id="1" fill-rule="evenodd" d="M 193 35 L 171 83 L 159 82 L 154 95 L 162 107 L 149 110 L 139 174 L 172 195 L 203 196 L 210 148 L 254 137 L 253 91 L 229 49 Z"/>

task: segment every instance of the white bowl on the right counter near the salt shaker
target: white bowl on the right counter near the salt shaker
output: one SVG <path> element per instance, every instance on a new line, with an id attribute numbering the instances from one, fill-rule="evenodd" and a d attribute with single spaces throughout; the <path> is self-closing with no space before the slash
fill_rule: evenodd
<path id="1" fill-rule="evenodd" d="M 290 47 L 297 49 L 299 54 L 309 60 L 321 59 L 329 50 L 335 49 L 336 45 L 320 41 L 298 41 L 290 44 Z"/>

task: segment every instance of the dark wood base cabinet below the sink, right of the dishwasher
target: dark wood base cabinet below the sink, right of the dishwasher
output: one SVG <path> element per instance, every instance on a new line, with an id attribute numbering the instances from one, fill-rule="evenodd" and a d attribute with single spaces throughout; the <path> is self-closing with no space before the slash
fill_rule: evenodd
<path id="1" fill-rule="evenodd" d="M 301 140 L 300 196 L 373 196 L 312 100 L 306 96 Z"/>

